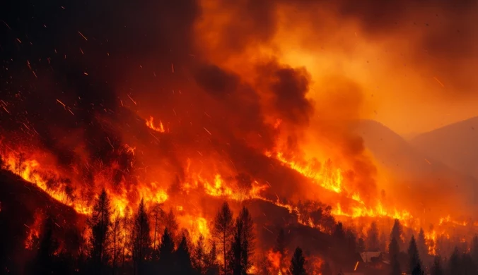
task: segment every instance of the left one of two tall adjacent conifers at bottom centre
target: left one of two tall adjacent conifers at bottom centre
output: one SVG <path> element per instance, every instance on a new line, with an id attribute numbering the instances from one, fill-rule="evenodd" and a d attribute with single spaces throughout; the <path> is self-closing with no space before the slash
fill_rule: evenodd
<path id="1" fill-rule="evenodd" d="M 221 244 L 221 251 L 223 253 L 223 274 L 226 274 L 228 271 L 226 254 L 229 250 L 229 243 L 231 242 L 232 236 L 233 212 L 231 212 L 229 204 L 224 202 L 214 220 L 214 238 Z"/>

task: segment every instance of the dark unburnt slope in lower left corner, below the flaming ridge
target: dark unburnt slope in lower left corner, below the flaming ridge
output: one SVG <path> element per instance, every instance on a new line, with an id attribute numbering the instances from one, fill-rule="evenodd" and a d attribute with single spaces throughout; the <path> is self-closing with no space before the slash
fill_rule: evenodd
<path id="1" fill-rule="evenodd" d="M 25 250 L 25 239 L 31 230 L 41 231 L 40 223 L 35 226 L 36 216 L 52 217 L 57 228 L 54 236 L 63 240 L 64 247 L 75 247 L 78 237 L 77 223 L 84 217 L 76 214 L 70 207 L 52 200 L 35 185 L 9 171 L 0 169 L 0 267 L 12 274 L 22 274 L 17 268 L 25 267 L 34 254 Z M 39 232 L 41 235 L 41 232 Z"/>

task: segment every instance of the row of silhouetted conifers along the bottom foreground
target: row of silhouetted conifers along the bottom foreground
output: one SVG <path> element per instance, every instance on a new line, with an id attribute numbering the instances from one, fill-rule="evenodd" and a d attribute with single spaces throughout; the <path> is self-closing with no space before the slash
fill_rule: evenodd
<path id="1" fill-rule="evenodd" d="M 266 255 L 255 255 L 256 236 L 247 207 L 234 218 L 228 203 L 224 202 L 212 223 L 211 240 L 199 236 L 196 242 L 185 229 L 179 230 L 172 211 L 164 212 L 160 205 L 149 210 L 141 200 L 132 216 L 113 216 L 110 199 L 103 190 L 83 231 L 86 237 L 76 240 L 77 251 L 61 249 L 62 244 L 54 238 L 57 225 L 47 217 L 42 235 L 33 248 L 35 257 L 25 267 L 25 274 L 245 275 L 253 271 L 265 275 L 271 274 L 271 270 L 280 270 L 282 274 L 306 275 L 317 271 L 315 267 L 310 268 L 310 259 L 304 257 L 301 247 L 296 247 L 291 259 L 287 259 L 291 254 L 284 229 L 279 230 L 272 248 L 278 259 L 276 266 L 271 266 Z M 375 223 L 368 228 L 366 239 L 357 239 L 354 232 L 340 222 L 327 231 L 343 254 L 383 251 L 380 247 L 385 237 L 380 236 Z M 470 251 L 460 252 L 455 248 L 448 259 L 436 256 L 433 261 L 423 230 L 417 238 L 412 235 L 409 241 L 404 241 L 402 225 L 395 219 L 389 240 L 386 257 L 390 264 L 377 274 L 478 274 L 478 236 L 472 240 Z M 327 261 L 320 269 L 324 275 L 334 274 Z M 339 274 L 343 274 L 342 271 Z"/>

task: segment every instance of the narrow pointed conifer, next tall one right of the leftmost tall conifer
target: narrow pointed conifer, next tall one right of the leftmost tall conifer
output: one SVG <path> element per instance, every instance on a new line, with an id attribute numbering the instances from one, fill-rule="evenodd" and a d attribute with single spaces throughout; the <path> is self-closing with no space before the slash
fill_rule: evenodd
<path id="1" fill-rule="evenodd" d="M 138 212 L 134 217 L 133 261 L 138 274 L 144 274 L 144 262 L 149 257 L 151 237 L 149 236 L 149 219 L 146 214 L 144 200 L 139 203 Z"/>

